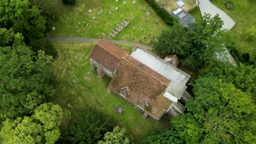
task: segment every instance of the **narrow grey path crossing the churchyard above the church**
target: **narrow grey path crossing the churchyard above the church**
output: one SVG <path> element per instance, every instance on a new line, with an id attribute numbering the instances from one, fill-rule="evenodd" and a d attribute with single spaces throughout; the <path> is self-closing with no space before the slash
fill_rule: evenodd
<path id="1" fill-rule="evenodd" d="M 100 39 L 83 38 L 83 37 L 47 37 L 50 41 L 99 41 Z M 129 41 L 110 40 L 115 44 L 125 44 L 132 46 L 139 46 L 147 50 L 152 50 L 152 47 L 142 44 L 136 44 Z"/>

